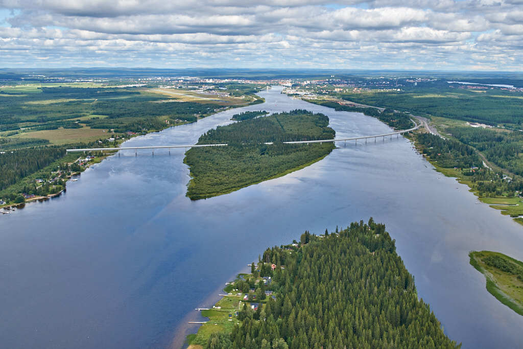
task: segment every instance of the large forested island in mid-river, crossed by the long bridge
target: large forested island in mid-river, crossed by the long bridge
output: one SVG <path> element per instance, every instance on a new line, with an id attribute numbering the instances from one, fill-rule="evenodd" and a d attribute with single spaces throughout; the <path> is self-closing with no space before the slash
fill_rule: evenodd
<path id="1" fill-rule="evenodd" d="M 228 147 L 191 148 L 184 162 L 190 167 L 187 196 L 204 199 L 283 176 L 323 159 L 334 144 L 283 144 L 285 141 L 333 139 L 323 114 L 292 110 L 217 127 L 197 144 Z M 273 144 L 264 144 L 273 142 Z"/>

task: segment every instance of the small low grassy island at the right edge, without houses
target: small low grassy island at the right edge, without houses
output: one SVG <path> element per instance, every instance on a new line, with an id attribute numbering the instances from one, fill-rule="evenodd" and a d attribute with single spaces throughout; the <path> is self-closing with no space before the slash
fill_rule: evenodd
<path id="1" fill-rule="evenodd" d="M 488 292 L 523 315 L 523 262 L 492 251 L 472 251 L 469 256 L 470 264 L 485 275 Z"/>

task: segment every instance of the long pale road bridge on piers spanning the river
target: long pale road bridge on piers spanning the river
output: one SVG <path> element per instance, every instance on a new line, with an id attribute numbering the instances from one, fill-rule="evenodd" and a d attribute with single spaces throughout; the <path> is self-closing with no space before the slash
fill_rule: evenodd
<path id="1" fill-rule="evenodd" d="M 364 137 L 353 137 L 353 138 L 338 138 L 338 139 L 321 139 L 321 140 L 313 140 L 313 141 L 290 141 L 290 142 L 282 142 L 284 144 L 309 144 L 309 143 L 336 143 L 336 142 L 344 142 L 344 144 L 347 143 L 347 141 L 355 141 L 355 143 L 358 143 L 358 140 L 365 140 L 365 143 L 367 143 L 368 139 L 374 138 L 374 142 L 378 138 L 382 138 L 383 141 L 385 140 L 385 137 L 390 137 L 392 139 L 392 136 L 399 137 L 400 134 L 407 133 L 410 131 L 414 131 L 420 127 L 422 127 L 422 122 L 416 123 L 416 121 L 412 120 L 414 122 L 413 128 L 410 128 L 408 130 L 401 130 L 401 131 L 395 131 L 391 133 L 383 133 L 383 134 L 375 134 L 373 136 L 364 136 Z M 274 142 L 265 142 L 264 144 L 274 144 Z M 221 143 L 221 144 L 173 144 L 173 145 L 150 145 L 147 147 L 118 147 L 118 148 L 81 148 L 81 149 L 67 149 L 68 153 L 71 152 L 89 152 L 89 151 L 115 151 L 115 150 L 134 150 L 135 153 L 137 153 L 140 149 L 168 149 L 170 152 L 170 149 L 173 148 L 202 148 L 202 147 L 226 147 L 227 143 Z"/>

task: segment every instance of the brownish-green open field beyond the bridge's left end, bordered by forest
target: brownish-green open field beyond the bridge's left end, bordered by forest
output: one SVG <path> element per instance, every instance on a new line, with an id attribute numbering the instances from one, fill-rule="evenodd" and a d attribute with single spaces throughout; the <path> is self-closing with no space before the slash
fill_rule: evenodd
<path id="1" fill-rule="evenodd" d="M 51 144 L 62 145 L 67 143 L 92 142 L 100 138 L 110 137 L 106 130 L 92 129 L 88 126 L 79 129 L 41 130 L 17 134 L 18 138 L 41 138 L 48 139 Z"/>

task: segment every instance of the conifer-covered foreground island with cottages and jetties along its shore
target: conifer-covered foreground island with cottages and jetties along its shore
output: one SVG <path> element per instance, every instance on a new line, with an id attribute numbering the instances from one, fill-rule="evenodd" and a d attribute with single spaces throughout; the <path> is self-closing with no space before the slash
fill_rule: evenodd
<path id="1" fill-rule="evenodd" d="M 454 348 L 384 224 L 373 219 L 267 249 L 189 348 Z"/>

